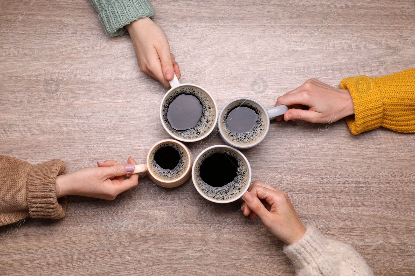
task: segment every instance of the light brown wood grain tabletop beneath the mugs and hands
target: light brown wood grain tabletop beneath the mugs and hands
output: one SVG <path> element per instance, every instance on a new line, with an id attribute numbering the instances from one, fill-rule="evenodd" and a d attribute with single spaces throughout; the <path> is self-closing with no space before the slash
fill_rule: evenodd
<path id="1" fill-rule="evenodd" d="M 413 0 L 152 4 L 181 81 L 219 109 L 240 96 L 272 107 L 312 77 L 339 87 L 415 65 Z M 70 172 L 144 162 L 169 138 L 158 111 L 166 89 L 139 70 L 128 34 L 105 36 L 90 2 L 2 0 L 0 10 L 0 154 L 59 158 Z M 414 275 L 414 142 L 384 128 L 354 136 L 344 120 L 272 122 L 243 153 L 253 180 L 286 191 L 305 225 L 353 245 L 375 275 Z M 214 144 L 217 132 L 188 146 L 197 155 Z M 239 206 L 208 202 L 191 180 L 164 190 L 142 174 L 114 201 L 70 196 L 63 219 L 0 227 L 13 231 L 0 275 L 293 275 L 283 243 Z"/>

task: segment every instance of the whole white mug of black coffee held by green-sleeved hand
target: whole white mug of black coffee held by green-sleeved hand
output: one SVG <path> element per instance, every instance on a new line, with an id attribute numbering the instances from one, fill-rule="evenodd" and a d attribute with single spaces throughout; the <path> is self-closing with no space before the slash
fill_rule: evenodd
<path id="1" fill-rule="evenodd" d="M 217 121 L 217 106 L 212 95 L 196 84 L 180 84 L 176 74 L 169 81 L 160 105 L 160 120 L 172 137 L 196 142 L 207 137 Z"/>

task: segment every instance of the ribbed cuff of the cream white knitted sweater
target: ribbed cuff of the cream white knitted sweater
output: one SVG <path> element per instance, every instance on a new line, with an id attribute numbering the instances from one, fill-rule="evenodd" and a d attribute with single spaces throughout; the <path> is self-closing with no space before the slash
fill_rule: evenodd
<path id="1" fill-rule="evenodd" d="M 293 263 L 294 268 L 301 269 L 305 266 L 319 266 L 330 264 L 325 254 L 325 238 L 322 233 L 313 226 L 307 226 L 303 237 L 291 245 L 284 245 L 283 251 Z M 316 269 L 319 269 L 316 267 Z M 330 271 L 330 270 L 329 270 Z"/>

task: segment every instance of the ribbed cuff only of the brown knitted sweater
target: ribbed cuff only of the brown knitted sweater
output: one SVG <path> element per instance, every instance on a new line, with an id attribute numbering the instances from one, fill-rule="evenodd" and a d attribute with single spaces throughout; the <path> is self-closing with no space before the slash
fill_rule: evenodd
<path id="1" fill-rule="evenodd" d="M 63 218 L 67 197 L 56 199 L 56 176 L 65 173 L 65 163 L 52 160 L 34 166 L 27 178 L 27 206 L 32 218 Z"/>

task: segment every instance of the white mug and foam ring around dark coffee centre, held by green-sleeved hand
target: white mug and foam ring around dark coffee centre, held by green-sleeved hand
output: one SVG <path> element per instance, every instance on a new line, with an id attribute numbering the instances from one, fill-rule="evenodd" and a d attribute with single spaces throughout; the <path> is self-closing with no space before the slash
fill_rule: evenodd
<path id="1" fill-rule="evenodd" d="M 182 142 L 196 142 L 207 136 L 213 131 L 217 122 L 217 105 L 215 99 L 201 86 L 196 84 L 180 84 L 176 74 L 171 81 L 169 81 L 171 89 L 169 89 L 161 100 L 160 104 L 160 120 L 164 129 L 170 134 L 171 137 L 178 139 Z M 194 95 L 200 101 L 200 104 L 203 106 L 203 114 L 201 120 L 198 122 L 198 126 L 193 127 L 189 130 L 175 130 L 171 127 L 170 123 L 167 120 L 166 110 L 168 110 L 168 105 L 173 101 L 181 90 L 194 90 L 196 94 Z M 176 95 L 176 96 L 174 96 Z M 180 95 L 180 94 L 178 94 Z M 192 94 L 193 95 L 193 94 Z M 206 117 L 205 117 L 206 115 Z M 208 122 L 206 122 L 206 121 Z"/>

